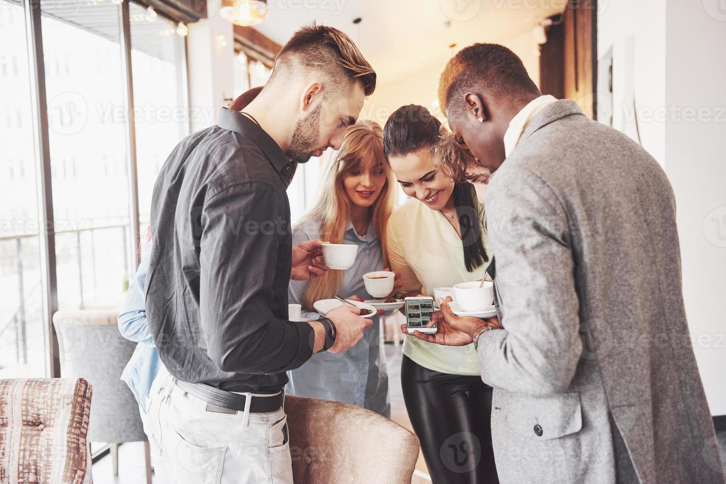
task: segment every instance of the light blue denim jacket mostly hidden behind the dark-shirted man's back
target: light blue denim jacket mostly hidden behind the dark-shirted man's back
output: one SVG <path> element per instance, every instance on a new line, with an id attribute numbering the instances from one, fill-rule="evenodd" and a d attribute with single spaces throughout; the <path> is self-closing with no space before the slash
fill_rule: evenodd
<path id="1" fill-rule="evenodd" d="M 136 401 L 144 411 L 146 397 L 162 364 L 149 331 L 144 308 L 144 285 L 149 271 L 149 259 L 149 250 L 145 250 L 139 270 L 129 285 L 129 292 L 126 292 L 121 313 L 118 314 L 118 330 L 121 335 L 138 343 L 129 363 L 123 369 L 121 380 L 129 385 L 131 393 L 134 393 Z"/>

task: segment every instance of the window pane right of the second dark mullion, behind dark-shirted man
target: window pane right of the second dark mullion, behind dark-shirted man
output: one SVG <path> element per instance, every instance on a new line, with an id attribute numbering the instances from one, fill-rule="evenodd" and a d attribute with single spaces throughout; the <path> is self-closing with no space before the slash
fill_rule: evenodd
<path id="1" fill-rule="evenodd" d="M 178 25 L 149 17 L 136 4 L 131 17 L 131 66 L 134 74 L 136 165 L 142 234 L 148 225 L 151 196 L 161 165 L 189 133 L 184 37 Z M 181 30 L 180 30 L 181 32 Z"/>

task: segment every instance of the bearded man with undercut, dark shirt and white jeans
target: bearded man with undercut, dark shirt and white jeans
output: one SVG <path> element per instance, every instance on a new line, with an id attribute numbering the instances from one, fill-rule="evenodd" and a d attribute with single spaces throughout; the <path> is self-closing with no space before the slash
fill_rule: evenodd
<path id="1" fill-rule="evenodd" d="M 154 186 L 146 314 L 163 366 L 147 402 L 158 477 L 293 483 L 285 372 L 339 353 L 370 327 L 343 305 L 289 321 L 287 286 L 328 270 L 322 242 L 292 246 L 293 163 L 338 149 L 367 95 L 370 64 L 340 30 L 311 25 L 280 51 L 242 112 L 187 136 Z"/>

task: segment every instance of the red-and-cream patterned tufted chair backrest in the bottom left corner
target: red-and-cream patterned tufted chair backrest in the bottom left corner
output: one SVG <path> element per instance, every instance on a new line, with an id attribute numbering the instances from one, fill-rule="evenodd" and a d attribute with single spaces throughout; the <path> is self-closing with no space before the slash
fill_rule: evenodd
<path id="1" fill-rule="evenodd" d="M 90 410 L 86 380 L 0 380 L 0 482 L 91 483 Z"/>

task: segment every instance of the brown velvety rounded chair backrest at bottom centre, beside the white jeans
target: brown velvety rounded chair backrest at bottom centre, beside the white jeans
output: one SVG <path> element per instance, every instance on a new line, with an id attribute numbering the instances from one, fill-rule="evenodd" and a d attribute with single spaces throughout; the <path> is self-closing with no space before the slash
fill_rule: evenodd
<path id="1" fill-rule="evenodd" d="M 359 406 L 285 397 L 296 483 L 411 483 L 416 435 Z"/>

